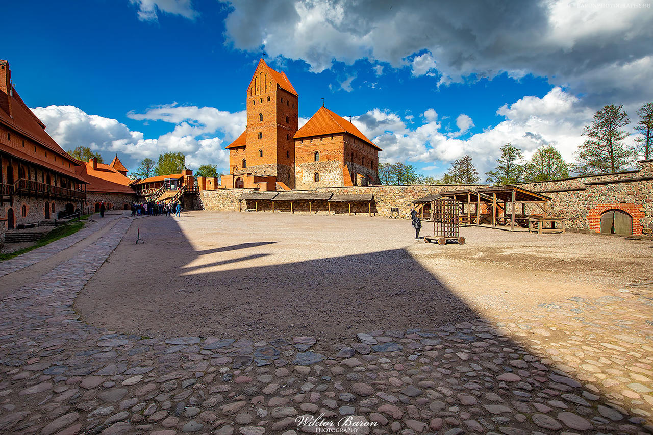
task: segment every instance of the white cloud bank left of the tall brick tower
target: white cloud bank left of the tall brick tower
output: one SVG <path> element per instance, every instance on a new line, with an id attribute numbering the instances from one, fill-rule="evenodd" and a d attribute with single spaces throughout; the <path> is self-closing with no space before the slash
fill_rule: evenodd
<path id="1" fill-rule="evenodd" d="M 131 169 L 145 157 L 156 160 L 165 152 L 183 152 L 186 165 L 215 163 L 229 168 L 229 152 L 224 142 L 231 142 L 245 129 L 246 114 L 225 112 L 213 107 L 164 105 L 148 109 L 143 114 L 129 113 L 134 120 L 165 121 L 174 124 L 172 131 L 158 138 L 145 138 L 140 131 L 112 118 L 89 115 L 75 106 L 48 106 L 32 109 L 47 125 L 46 131 L 65 150 L 88 146 L 105 159 L 118 153 Z"/>

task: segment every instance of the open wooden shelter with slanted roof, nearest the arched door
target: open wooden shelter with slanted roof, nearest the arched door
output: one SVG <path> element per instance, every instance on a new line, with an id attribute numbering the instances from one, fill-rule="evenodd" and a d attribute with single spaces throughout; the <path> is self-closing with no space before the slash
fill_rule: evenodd
<path id="1" fill-rule="evenodd" d="M 492 227 L 496 228 L 497 221 L 503 220 L 507 226 L 507 204 L 511 204 L 511 217 L 510 217 L 510 229 L 515 231 L 515 224 L 526 226 L 528 223 L 528 216 L 526 216 L 525 205 L 526 203 L 535 204 L 543 210 L 543 217 L 547 217 L 547 202 L 549 202 L 549 197 L 545 197 L 539 193 L 535 193 L 530 190 L 523 189 L 522 187 L 517 187 L 515 185 L 497 185 L 490 187 L 479 187 L 477 189 L 479 194 L 484 196 L 481 199 L 481 195 L 477 199 L 480 204 L 481 201 L 486 202 L 486 204 L 492 204 Z M 503 202 L 503 206 L 499 204 Z M 522 214 L 517 217 L 515 212 L 515 204 L 520 202 L 522 204 Z M 503 217 L 498 217 L 498 208 L 503 209 Z M 477 222 L 479 223 L 479 222 Z M 480 223 L 479 223 L 480 224 Z"/>

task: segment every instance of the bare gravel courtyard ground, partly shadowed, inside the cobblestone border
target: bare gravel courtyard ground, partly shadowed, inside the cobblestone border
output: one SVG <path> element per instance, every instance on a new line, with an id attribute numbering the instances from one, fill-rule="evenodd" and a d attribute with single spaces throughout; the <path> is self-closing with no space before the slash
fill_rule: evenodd
<path id="1" fill-rule="evenodd" d="M 145 244 L 135 244 L 136 227 Z M 424 223 L 423 234 L 430 234 Z M 653 241 L 462 228 L 415 242 L 407 220 L 185 212 L 136 219 L 76 299 L 84 321 L 143 336 L 272 340 L 503 319 L 650 280 Z"/>

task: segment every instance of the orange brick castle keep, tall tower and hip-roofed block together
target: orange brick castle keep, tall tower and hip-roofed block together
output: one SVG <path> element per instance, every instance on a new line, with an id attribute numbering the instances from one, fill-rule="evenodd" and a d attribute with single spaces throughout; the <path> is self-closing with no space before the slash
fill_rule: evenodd
<path id="1" fill-rule="evenodd" d="M 301 129 L 298 94 L 263 59 L 247 88 L 247 126 L 229 150 L 227 188 L 259 191 L 379 184 L 379 151 L 324 106 Z"/>

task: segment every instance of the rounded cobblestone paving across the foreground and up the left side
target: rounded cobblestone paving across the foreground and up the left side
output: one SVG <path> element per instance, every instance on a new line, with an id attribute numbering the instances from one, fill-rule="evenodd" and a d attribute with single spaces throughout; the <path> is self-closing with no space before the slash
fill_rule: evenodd
<path id="1" fill-rule="evenodd" d="M 315 433 L 296 419 L 323 414 L 375 423 L 358 434 L 653 433 L 653 283 L 327 348 L 149 338 L 72 309 L 131 221 L 1 300 L 0 432 L 291 435 Z"/>

